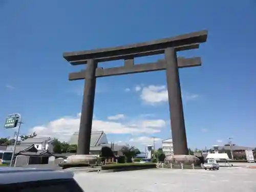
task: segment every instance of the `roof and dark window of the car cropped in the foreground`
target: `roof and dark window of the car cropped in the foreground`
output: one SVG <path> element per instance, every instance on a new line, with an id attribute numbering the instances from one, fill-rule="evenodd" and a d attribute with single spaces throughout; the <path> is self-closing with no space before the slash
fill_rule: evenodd
<path id="1" fill-rule="evenodd" d="M 0 191 L 83 192 L 73 176 L 62 170 L 0 167 Z"/>

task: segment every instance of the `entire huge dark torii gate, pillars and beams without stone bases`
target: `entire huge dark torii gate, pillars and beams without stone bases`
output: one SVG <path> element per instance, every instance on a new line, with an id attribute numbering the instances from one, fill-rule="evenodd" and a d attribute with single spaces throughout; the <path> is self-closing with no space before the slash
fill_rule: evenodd
<path id="1" fill-rule="evenodd" d="M 69 74 L 69 80 L 85 79 L 77 154 L 89 155 L 90 153 L 96 78 L 160 70 L 166 70 L 174 154 L 188 154 L 179 68 L 201 66 L 201 58 L 177 58 L 176 52 L 197 49 L 206 39 L 207 31 L 203 30 L 129 46 L 63 53 L 63 57 L 71 65 L 87 64 L 86 70 Z M 157 54 L 164 54 L 165 59 L 134 65 L 135 57 Z M 98 68 L 98 62 L 120 59 L 124 60 L 123 67 Z"/>

